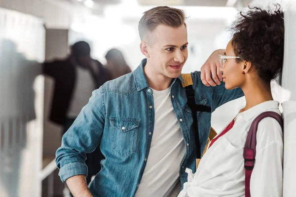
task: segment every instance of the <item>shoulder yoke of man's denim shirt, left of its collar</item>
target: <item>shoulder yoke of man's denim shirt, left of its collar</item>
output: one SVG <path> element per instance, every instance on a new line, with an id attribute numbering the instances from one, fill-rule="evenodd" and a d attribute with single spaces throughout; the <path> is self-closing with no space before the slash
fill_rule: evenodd
<path id="1" fill-rule="evenodd" d="M 133 72 L 108 81 L 101 87 L 102 92 L 114 92 L 124 95 L 129 95 L 136 89 Z"/>

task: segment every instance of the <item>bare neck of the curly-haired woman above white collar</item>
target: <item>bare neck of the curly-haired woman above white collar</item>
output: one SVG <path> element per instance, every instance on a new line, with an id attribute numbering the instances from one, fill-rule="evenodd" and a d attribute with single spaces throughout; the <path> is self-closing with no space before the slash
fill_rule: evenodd
<path id="1" fill-rule="evenodd" d="M 262 102 L 273 100 L 270 85 L 265 85 L 261 81 L 249 83 L 242 90 L 245 94 L 246 106 L 240 112 L 246 111 Z"/>

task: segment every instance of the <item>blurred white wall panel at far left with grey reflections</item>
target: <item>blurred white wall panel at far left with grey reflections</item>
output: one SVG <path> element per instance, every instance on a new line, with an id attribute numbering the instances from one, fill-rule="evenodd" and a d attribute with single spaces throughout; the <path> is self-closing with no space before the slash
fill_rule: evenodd
<path id="1" fill-rule="evenodd" d="M 42 164 L 42 20 L 0 8 L 0 196 L 38 197 Z"/>

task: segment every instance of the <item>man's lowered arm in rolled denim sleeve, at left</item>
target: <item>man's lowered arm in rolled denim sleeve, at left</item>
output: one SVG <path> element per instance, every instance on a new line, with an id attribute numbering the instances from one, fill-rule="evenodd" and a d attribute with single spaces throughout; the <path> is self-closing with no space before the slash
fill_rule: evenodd
<path id="1" fill-rule="evenodd" d="M 71 191 L 85 191 L 84 180 L 74 183 L 77 175 L 85 177 L 87 166 L 86 153 L 98 146 L 104 131 L 105 113 L 103 111 L 101 88 L 94 91 L 86 106 L 62 138 L 62 146 L 56 152 L 56 164 L 60 169 L 61 180 L 69 182 Z M 75 178 L 71 178 L 75 177 Z M 70 179 L 71 178 L 71 179 Z M 68 180 L 69 179 L 69 180 Z M 80 194 L 80 193 L 79 193 Z M 85 193 L 87 194 L 87 192 Z M 80 197 L 80 196 L 79 196 Z"/>

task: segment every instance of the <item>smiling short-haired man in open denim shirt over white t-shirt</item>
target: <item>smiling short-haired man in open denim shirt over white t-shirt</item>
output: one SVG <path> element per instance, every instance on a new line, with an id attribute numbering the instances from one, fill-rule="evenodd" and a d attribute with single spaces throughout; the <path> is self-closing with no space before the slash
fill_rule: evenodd
<path id="1" fill-rule="evenodd" d="M 61 179 L 76 197 L 176 197 L 187 180 L 186 167 L 195 171 L 192 112 L 180 76 L 188 55 L 185 14 L 152 8 L 141 18 L 139 33 L 146 59 L 93 93 L 56 153 Z M 207 83 L 214 83 L 208 76 L 217 70 L 212 66 L 217 58 L 214 54 L 206 64 Z M 223 83 L 203 85 L 200 72 L 191 75 L 196 104 L 212 111 L 243 96 L 241 90 L 225 90 Z M 199 112 L 197 118 L 202 152 L 211 114 Z M 106 159 L 88 189 L 83 161 L 99 142 Z"/>

